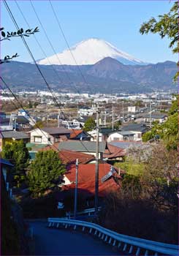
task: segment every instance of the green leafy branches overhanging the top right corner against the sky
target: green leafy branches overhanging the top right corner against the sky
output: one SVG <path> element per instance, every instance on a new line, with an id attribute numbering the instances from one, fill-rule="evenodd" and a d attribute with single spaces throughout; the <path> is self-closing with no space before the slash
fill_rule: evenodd
<path id="1" fill-rule="evenodd" d="M 159 34 L 161 38 L 168 37 L 170 41 L 169 47 L 173 53 L 178 53 L 178 1 L 175 1 L 170 12 L 159 15 L 159 20 L 151 18 L 148 22 L 142 23 L 140 27 L 141 34 Z M 179 63 L 178 63 L 179 64 Z M 175 80 L 178 78 L 178 72 L 175 75 Z"/>

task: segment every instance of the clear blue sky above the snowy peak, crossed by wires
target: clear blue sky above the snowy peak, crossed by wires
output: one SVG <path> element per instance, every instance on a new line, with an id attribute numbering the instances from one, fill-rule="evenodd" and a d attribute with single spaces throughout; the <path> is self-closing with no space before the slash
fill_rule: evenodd
<path id="1" fill-rule="evenodd" d="M 7 3 L 18 25 L 28 29 L 15 1 L 7 1 Z M 56 0 L 52 1 L 52 3 L 70 46 L 83 39 L 98 37 L 142 61 L 157 63 L 166 60 L 178 60 L 177 54 L 172 54 L 172 50 L 168 48 L 169 39 L 160 39 L 158 34 L 141 35 L 139 33 L 140 26 L 144 21 L 168 12 L 172 7 L 173 1 Z M 18 4 L 31 28 L 39 26 L 30 1 L 18 1 Z M 61 31 L 58 29 L 49 1 L 33 1 L 33 4 L 56 52 L 59 53 L 66 49 L 66 43 Z M 15 30 L 15 26 L 9 18 L 2 1 L 1 26 L 4 26 L 8 31 Z M 47 56 L 53 55 L 53 50 L 50 48 L 40 26 L 39 30 L 40 32 L 36 34 L 38 41 Z M 45 58 L 33 36 L 26 37 L 26 42 L 28 42 L 35 59 Z M 31 61 L 20 38 L 1 43 L 1 56 L 11 55 L 16 52 L 20 55 L 16 60 Z"/>

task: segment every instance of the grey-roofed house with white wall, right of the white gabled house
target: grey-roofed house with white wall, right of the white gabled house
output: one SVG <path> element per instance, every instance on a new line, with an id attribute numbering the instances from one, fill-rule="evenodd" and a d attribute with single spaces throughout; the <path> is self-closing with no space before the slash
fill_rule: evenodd
<path id="1" fill-rule="evenodd" d="M 148 132 L 148 127 L 146 124 L 136 124 L 136 123 L 131 123 L 127 125 L 123 125 L 121 127 L 121 131 L 123 132 L 132 132 L 134 134 L 134 140 L 135 141 L 142 141 L 142 135 L 145 132 Z"/>

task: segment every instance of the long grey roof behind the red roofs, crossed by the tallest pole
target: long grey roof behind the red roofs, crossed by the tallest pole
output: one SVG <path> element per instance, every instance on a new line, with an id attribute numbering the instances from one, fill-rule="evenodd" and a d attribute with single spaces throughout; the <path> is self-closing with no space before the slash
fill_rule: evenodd
<path id="1" fill-rule="evenodd" d="M 104 152 L 106 148 L 105 142 L 99 143 L 99 152 Z M 73 141 L 62 141 L 59 143 L 58 149 L 66 149 L 66 150 L 73 150 L 79 152 L 95 152 L 96 151 L 96 142 L 95 141 L 80 141 L 80 140 L 73 140 Z"/>

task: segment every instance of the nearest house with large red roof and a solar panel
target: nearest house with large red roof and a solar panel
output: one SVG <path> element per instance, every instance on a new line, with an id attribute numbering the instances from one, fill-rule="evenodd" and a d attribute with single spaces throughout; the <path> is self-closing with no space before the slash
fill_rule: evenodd
<path id="1" fill-rule="evenodd" d="M 78 196 L 83 197 L 88 206 L 94 206 L 95 195 L 95 168 L 96 165 L 79 165 L 78 166 Z M 69 168 L 64 174 L 64 184 L 62 187 L 61 198 L 71 197 L 75 189 L 75 167 Z M 103 178 L 103 179 L 102 179 Z M 99 197 L 105 197 L 111 191 L 117 192 L 121 187 L 121 176 L 118 170 L 109 164 L 99 164 Z"/>

